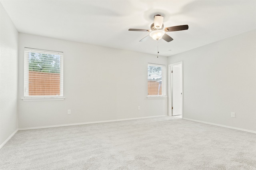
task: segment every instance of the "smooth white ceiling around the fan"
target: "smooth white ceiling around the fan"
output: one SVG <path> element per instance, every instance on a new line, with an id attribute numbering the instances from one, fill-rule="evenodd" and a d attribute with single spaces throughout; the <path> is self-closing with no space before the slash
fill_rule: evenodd
<path id="1" fill-rule="evenodd" d="M 159 40 L 159 55 L 170 56 L 256 29 L 256 0 L 0 0 L 18 32 L 157 54 L 157 41 L 139 42 L 154 15 L 174 40 Z"/>

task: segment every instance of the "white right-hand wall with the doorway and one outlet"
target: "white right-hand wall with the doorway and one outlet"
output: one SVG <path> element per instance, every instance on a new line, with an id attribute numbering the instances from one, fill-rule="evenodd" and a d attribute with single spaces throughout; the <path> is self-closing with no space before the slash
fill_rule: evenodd
<path id="1" fill-rule="evenodd" d="M 168 57 L 178 61 L 184 118 L 256 131 L 256 30 Z"/>

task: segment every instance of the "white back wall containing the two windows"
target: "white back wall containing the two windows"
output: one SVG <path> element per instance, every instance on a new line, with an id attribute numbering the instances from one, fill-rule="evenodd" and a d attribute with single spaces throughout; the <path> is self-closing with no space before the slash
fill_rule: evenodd
<path id="1" fill-rule="evenodd" d="M 22 101 L 24 47 L 64 52 L 64 101 Z M 147 99 L 148 63 L 167 57 L 19 34 L 19 128 L 167 115 L 167 98 Z"/>

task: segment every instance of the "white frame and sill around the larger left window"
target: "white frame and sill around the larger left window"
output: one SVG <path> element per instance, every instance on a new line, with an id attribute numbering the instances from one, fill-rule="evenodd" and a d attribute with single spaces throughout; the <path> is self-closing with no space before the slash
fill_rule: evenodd
<path id="1" fill-rule="evenodd" d="M 29 59 L 26 53 L 30 51 L 60 55 L 60 95 L 29 95 Z M 60 101 L 65 99 L 65 97 L 63 96 L 63 58 L 64 53 L 61 51 L 51 51 L 24 47 L 24 97 L 22 98 L 23 101 Z"/>

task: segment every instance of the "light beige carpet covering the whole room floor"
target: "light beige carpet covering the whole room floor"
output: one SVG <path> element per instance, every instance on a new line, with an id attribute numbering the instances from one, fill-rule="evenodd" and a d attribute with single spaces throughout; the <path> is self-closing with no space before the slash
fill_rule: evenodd
<path id="1" fill-rule="evenodd" d="M 256 134 L 171 117 L 18 131 L 0 170 L 256 170 Z"/>

